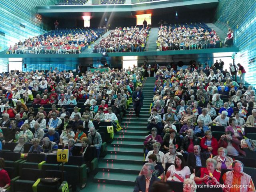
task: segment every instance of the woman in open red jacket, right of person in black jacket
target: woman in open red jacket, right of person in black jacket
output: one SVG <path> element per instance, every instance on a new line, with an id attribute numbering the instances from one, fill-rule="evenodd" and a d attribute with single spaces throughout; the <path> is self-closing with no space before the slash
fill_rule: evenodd
<path id="1" fill-rule="evenodd" d="M 202 151 L 213 155 L 218 155 L 218 141 L 212 136 L 210 130 L 204 133 L 204 137 L 201 139 L 200 146 Z"/>

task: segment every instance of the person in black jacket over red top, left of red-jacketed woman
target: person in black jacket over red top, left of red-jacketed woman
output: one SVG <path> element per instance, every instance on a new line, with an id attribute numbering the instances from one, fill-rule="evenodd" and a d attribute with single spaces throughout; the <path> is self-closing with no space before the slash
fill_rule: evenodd
<path id="1" fill-rule="evenodd" d="M 194 146 L 200 145 L 200 139 L 196 136 L 194 136 L 194 130 L 189 129 L 188 134 L 183 138 L 181 146 L 180 146 L 180 152 L 181 153 L 192 153 L 194 152 Z"/>

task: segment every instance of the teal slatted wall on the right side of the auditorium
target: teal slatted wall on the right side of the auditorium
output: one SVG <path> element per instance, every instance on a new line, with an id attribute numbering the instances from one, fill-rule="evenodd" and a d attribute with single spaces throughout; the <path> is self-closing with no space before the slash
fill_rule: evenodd
<path id="1" fill-rule="evenodd" d="M 234 31 L 234 44 L 240 52 L 235 63 L 246 68 L 246 81 L 256 86 L 256 1 L 220 0 L 215 25 L 224 32 L 230 27 Z"/>

